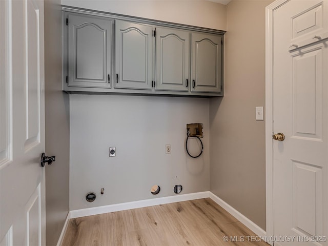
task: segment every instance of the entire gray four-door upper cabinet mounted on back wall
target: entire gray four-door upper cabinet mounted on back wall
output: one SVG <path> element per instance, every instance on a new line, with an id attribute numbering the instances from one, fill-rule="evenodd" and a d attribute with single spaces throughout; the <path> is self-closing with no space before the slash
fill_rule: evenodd
<path id="1" fill-rule="evenodd" d="M 62 9 L 64 91 L 223 96 L 224 31 Z"/>

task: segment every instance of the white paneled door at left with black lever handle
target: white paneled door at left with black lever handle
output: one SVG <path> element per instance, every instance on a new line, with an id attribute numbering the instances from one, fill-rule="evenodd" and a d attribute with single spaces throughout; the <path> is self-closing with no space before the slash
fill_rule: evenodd
<path id="1" fill-rule="evenodd" d="M 0 245 L 45 245 L 43 1 L 0 1 Z"/>

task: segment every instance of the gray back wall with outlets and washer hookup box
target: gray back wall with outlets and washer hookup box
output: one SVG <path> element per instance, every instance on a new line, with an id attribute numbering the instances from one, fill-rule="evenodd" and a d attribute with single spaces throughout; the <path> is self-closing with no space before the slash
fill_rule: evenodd
<path id="1" fill-rule="evenodd" d="M 198 122 L 204 152 L 194 159 L 185 151 L 186 124 Z M 70 126 L 70 210 L 173 196 L 179 184 L 180 194 L 210 189 L 207 98 L 70 95 Z M 200 148 L 190 139 L 191 153 Z M 151 194 L 153 185 L 159 194 Z M 85 199 L 90 191 L 97 194 L 92 203 Z"/>

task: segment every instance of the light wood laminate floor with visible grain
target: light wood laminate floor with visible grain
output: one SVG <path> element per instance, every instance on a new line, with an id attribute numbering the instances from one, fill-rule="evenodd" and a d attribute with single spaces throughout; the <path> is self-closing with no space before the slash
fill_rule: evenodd
<path id="1" fill-rule="evenodd" d="M 62 245 L 269 246 L 210 198 L 70 219 Z"/>

